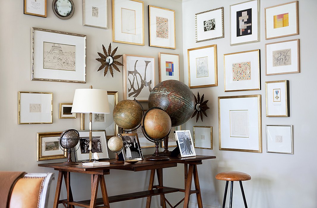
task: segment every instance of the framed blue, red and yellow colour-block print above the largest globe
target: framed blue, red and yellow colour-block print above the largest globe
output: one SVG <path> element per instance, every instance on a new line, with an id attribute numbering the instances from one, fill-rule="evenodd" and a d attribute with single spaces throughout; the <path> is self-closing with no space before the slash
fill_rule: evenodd
<path id="1" fill-rule="evenodd" d="M 159 82 L 168 79 L 180 81 L 179 54 L 159 52 Z"/>

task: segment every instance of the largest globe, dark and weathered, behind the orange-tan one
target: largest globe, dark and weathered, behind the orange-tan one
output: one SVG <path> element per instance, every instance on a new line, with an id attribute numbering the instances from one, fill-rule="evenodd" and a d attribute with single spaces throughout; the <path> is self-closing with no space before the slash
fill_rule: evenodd
<path id="1" fill-rule="evenodd" d="M 165 80 L 151 91 L 149 108 L 159 107 L 171 117 L 172 126 L 179 126 L 191 118 L 195 110 L 195 98 L 191 89 L 177 80 Z"/>

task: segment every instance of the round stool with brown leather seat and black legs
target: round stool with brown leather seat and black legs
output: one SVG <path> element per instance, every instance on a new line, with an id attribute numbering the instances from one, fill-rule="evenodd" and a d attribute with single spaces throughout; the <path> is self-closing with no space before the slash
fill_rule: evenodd
<path id="1" fill-rule="evenodd" d="M 243 180 L 251 180 L 251 176 L 247 173 L 242 172 L 236 172 L 236 171 L 228 171 L 228 172 L 222 172 L 218 173 L 216 175 L 217 180 L 226 180 L 226 188 L 224 190 L 224 197 L 223 197 L 223 204 L 222 207 L 224 208 L 224 205 L 226 204 L 226 197 L 227 197 L 227 191 L 228 191 L 228 183 L 231 181 L 230 186 L 230 208 L 232 208 L 232 194 L 233 194 L 233 181 L 239 181 L 240 188 L 242 192 L 244 207 L 248 208 L 247 201 L 245 200 L 245 195 L 243 191 L 242 181 Z"/>

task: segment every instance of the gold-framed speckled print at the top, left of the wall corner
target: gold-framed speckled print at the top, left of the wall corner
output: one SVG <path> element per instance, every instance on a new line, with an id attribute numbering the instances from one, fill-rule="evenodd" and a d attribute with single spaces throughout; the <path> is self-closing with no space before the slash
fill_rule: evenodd
<path id="1" fill-rule="evenodd" d="M 149 5 L 149 46 L 176 49 L 175 10 Z"/>

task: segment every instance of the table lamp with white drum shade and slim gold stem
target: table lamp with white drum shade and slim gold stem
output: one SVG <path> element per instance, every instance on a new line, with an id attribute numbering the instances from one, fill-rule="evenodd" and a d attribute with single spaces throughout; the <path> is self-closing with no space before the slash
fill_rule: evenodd
<path id="1" fill-rule="evenodd" d="M 93 89 L 93 86 L 89 89 L 76 89 L 71 112 L 89 113 L 89 162 L 91 162 L 93 113 L 110 113 L 107 91 Z"/>

